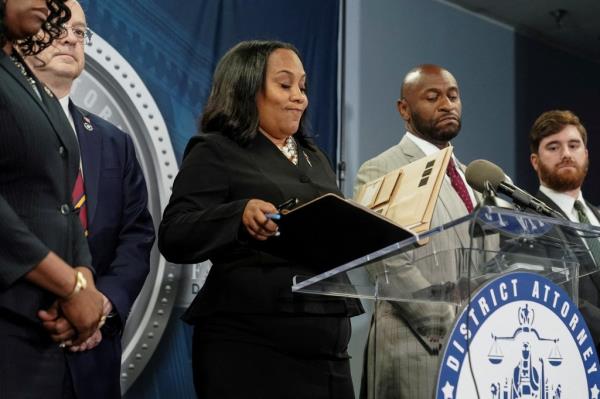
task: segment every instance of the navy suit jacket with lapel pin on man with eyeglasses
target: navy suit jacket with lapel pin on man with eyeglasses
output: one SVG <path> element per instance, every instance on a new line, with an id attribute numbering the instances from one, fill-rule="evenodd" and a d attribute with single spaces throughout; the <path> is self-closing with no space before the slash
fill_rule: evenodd
<path id="1" fill-rule="evenodd" d="M 71 354 L 78 398 L 120 398 L 121 332 L 149 271 L 154 225 L 131 138 L 70 103 L 79 140 L 88 211 L 88 244 L 96 287 L 114 317 L 96 348 Z"/>

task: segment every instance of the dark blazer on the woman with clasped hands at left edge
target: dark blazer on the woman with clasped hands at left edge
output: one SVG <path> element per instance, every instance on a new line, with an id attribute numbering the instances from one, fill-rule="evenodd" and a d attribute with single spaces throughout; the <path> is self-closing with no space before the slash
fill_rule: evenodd
<path id="1" fill-rule="evenodd" d="M 91 258 L 71 204 L 77 141 L 56 98 L 38 87 L 41 100 L 0 51 L 0 317 L 41 328 L 36 312 L 55 298 L 23 275 L 49 251 L 74 266 L 91 267 Z"/>

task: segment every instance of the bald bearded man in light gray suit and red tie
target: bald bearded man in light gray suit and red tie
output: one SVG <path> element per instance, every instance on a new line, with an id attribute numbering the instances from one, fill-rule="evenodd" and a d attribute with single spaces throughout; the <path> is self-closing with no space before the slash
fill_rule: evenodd
<path id="1" fill-rule="evenodd" d="M 421 65 L 406 75 L 397 107 L 406 133 L 399 144 L 361 166 L 355 193 L 362 184 L 447 147 L 460 131 L 458 84 L 450 72 L 437 65 Z M 464 216 L 476 205 L 478 197 L 467 185 L 463 169 L 453 156 L 432 227 Z M 460 248 L 469 246 L 467 228 L 458 228 L 432 238 L 418 249 L 371 265 L 368 270 L 375 280 L 385 271 L 386 284 L 393 284 L 396 290 L 426 289 L 435 282 L 455 280 Z M 422 261 L 427 257 L 431 261 Z M 418 267 L 417 260 L 421 260 Z M 361 397 L 433 397 L 442 340 L 455 314 L 455 307 L 447 303 L 379 302 L 367 343 Z"/>

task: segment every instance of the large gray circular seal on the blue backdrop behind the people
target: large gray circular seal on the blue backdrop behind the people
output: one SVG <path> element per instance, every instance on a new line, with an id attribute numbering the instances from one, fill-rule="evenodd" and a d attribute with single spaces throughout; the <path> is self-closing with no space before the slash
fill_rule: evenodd
<path id="1" fill-rule="evenodd" d="M 148 206 L 158 228 L 177 174 L 167 126 L 138 74 L 111 45 L 94 33 L 85 53 L 85 71 L 76 81 L 71 97 L 77 105 L 118 126 L 133 139 L 148 186 Z M 123 393 L 139 376 L 160 341 L 175 302 L 179 269 L 160 255 L 155 244 L 150 274 L 123 333 Z"/>

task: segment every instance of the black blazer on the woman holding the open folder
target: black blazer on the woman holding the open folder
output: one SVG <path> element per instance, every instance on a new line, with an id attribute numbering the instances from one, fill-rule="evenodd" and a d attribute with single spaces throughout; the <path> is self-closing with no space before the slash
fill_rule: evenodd
<path id="1" fill-rule="evenodd" d="M 298 151 L 295 166 L 261 133 L 246 148 L 220 134 L 190 140 L 158 235 L 168 260 L 210 259 L 213 264 L 185 320 L 216 312 L 344 316 L 362 312 L 354 300 L 292 295 L 292 277 L 315 275 L 317 265 L 269 255 L 249 238 L 241 222 L 252 198 L 277 205 L 291 197 L 304 203 L 326 193 L 340 194 L 323 153 L 301 145 Z"/>

